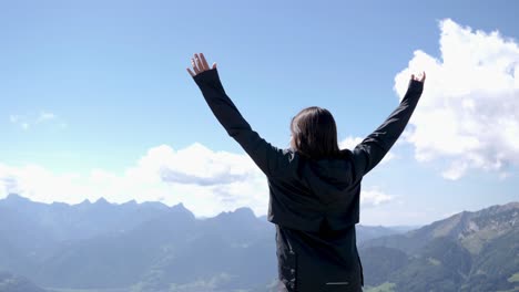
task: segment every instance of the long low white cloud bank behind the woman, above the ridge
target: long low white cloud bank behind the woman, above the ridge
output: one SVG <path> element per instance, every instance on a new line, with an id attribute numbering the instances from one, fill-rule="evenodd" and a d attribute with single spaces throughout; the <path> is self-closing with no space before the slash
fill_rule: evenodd
<path id="1" fill-rule="evenodd" d="M 59 174 L 38 165 L 0 164 L 0 198 L 11 192 L 42 202 L 78 204 L 101 197 L 118 204 L 183 202 L 197 217 L 244 206 L 257 216 L 268 209 L 266 177 L 247 155 L 214 152 L 199 143 L 183 149 L 153 147 L 121 174 L 104 169 Z M 360 198 L 364 207 L 393 199 L 377 188 L 363 190 Z"/>

